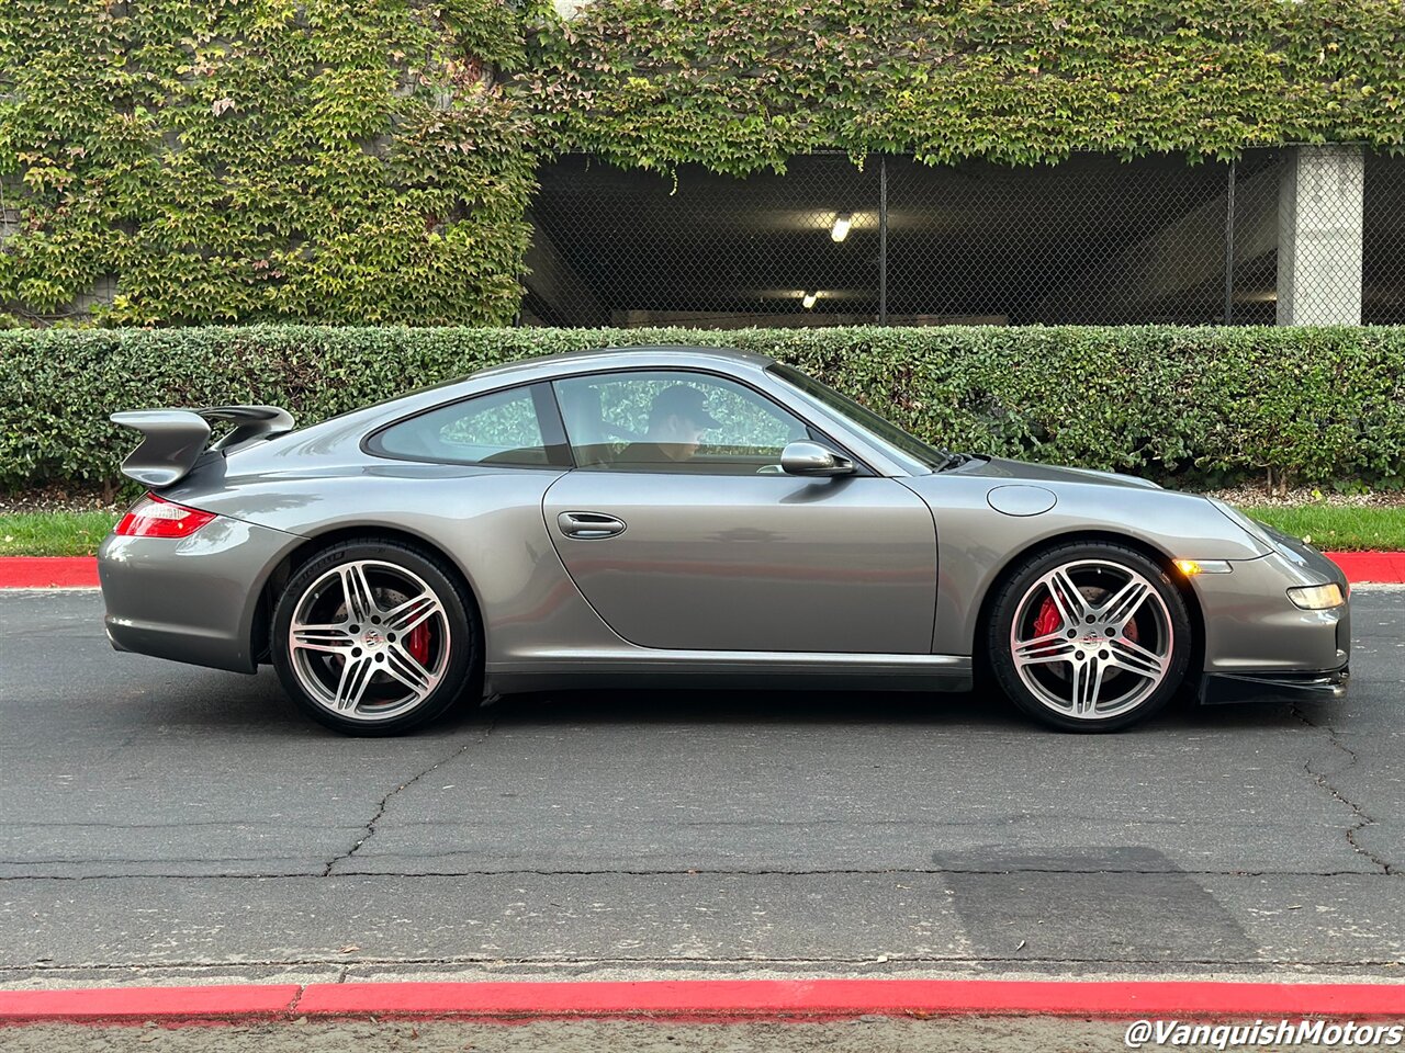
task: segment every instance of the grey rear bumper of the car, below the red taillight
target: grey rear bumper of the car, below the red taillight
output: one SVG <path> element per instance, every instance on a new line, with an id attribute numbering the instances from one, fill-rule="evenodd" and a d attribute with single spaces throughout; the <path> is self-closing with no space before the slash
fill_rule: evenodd
<path id="1" fill-rule="evenodd" d="M 253 673 L 253 619 L 268 571 L 303 539 L 219 517 L 188 538 L 108 535 L 97 553 L 115 650 Z"/>

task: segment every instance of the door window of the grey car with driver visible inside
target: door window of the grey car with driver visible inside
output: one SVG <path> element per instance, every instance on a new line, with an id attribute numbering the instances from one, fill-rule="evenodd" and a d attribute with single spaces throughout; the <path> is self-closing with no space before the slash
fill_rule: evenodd
<path id="1" fill-rule="evenodd" d="M 710 373 L 575 376 L 556 380 L 556 400 L 580 468 L 754 475 L 808 437 L 770 399 Z"/>

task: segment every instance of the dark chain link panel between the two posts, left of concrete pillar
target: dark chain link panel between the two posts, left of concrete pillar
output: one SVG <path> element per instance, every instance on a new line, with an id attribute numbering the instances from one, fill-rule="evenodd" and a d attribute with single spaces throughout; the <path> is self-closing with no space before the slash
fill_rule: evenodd
<path id="1" fill-rule="evenodd" d="M 905 322 L 1213 322 L 1222 166 L 1097 154 L 1007 168 L 888 160 L 888 314 Z"/>

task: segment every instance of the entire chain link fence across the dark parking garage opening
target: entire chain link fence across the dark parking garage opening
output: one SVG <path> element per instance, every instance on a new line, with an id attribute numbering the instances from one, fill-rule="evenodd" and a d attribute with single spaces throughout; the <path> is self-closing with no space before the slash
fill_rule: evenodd
<path id="1" fill-rule="evenodd" d="M 525 324 L 1405 322 L 1405 159 L 1352 146 L 540 180 Z"/>

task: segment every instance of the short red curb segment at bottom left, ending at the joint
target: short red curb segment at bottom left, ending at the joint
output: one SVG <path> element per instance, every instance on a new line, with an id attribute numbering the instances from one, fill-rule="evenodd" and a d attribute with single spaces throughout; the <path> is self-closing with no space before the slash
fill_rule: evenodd
<path id="1" fill-rule="evenodd" d="M 0 1025 L 291 1018 L 301 993 L 298 984 L 0 991 Z"/>

